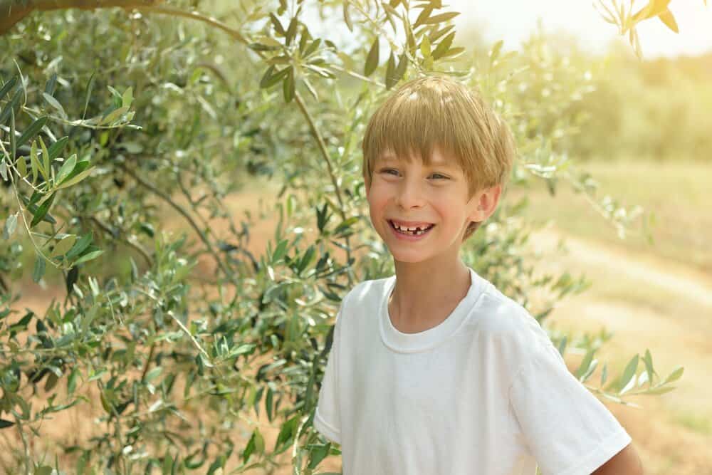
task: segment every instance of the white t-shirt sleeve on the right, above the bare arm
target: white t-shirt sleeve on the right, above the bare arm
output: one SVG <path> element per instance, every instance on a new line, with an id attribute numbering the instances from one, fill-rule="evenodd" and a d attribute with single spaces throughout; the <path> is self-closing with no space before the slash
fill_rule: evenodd
<path id="1" fill-rule="evenodd" d="M 543 475 L 589 475 L 632 440 L 550 342 L 520 367 L 510 402 Z"/>

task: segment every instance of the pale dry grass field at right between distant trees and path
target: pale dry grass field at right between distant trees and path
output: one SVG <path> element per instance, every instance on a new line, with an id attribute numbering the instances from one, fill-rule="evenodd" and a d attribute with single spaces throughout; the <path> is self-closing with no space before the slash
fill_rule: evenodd
<path id="1" fill-rule="evenodd" d="M 529 216 L 538 221 L 554 219 L 557 227 L 573 236 L 712 272 L 707 244 L 707 236 L 712 235 L 712 213 L 705 212 L 712 207 L 712 162 L 619 160 L 586 162 L 581 168 L 599 182 L 597 196 L 608 194 L 626 207 L 638 204 L 654 214 L 654 244 L 642 236 L 619 239 L 614 227 L 564 182 L 555 197 L 535 182 L 533 189 L 525 192 L 530 199 Z"/>

